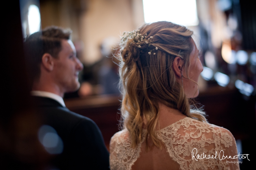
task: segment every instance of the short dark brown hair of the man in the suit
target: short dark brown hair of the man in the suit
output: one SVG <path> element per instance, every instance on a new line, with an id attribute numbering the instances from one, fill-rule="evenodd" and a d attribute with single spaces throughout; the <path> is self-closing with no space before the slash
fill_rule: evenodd
<path id="1" fill-rule="evenodd" d="M 25 39 L 25 56 L 32 82 L 40 77 L 42 56 L 49 53 L 52 57 L 57 58 L 61 51 L 61 40 L 69 40 L 71 32 L 70 29 L 51 26 L 35 32 Z"/>

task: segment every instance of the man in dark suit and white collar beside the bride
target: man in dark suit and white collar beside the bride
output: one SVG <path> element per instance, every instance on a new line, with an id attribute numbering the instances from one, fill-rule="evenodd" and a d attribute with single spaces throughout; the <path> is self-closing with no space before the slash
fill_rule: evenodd
<path id="1" fill-rule="evenodd" d="M 109 169 L 109 153 L 98 126 L 89 118 L 69 111 L 62 99 L 64 93 L 80 87 L 78 73 L 83 69 L 70 33 L 49 27 L 30 35 L 24 43 L 32 79 L 31 94 L 43 124 L 47 125 L 39 130 L 39 140 L 55 156 L 51 164 L 56 168 Z M 46 137 L 40 137 L 43 127 L 57 132 L 63 149 L 52 150 L 57 143 L 54 144 L 56 135 L 50 131 Z"/>

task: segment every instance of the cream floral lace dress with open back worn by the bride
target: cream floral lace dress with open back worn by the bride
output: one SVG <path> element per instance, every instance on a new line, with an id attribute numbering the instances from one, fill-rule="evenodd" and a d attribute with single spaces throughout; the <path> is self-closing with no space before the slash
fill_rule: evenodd
<path id="1" fill-rule="evenodd" d="M 131 169 L 140 155 L 146 130 L 143 130 L 142 135 L 143 140 L 135 149 L 130 147 L 131 141 L 126 129 L 111 138 L 111 170 Z M 182 170 L 239 169 L 239 160 L 229 158 L 238 155 L 236 141 L 222 127 L 186 117 L 157 131 L 157 137 L 165 144 L 167 154 Z"/>

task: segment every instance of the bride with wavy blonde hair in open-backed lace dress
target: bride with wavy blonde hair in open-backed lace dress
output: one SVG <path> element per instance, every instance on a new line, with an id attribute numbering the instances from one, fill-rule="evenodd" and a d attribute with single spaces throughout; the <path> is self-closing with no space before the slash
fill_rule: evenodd
<path id="1" fill-rule="evenodd" d="M 190 105 L 203 70 L 192 34 L 165 21 L 124 33 L 123 130 L 111 138 L 112 170 L 239 169 L 233 135 Z"/>

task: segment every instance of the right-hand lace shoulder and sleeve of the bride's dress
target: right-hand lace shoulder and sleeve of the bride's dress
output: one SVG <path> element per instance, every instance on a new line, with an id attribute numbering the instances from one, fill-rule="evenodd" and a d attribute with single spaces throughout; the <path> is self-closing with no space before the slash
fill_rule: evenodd
<path id="1" fill-rule="evenodd" d="M 236 141 L 227 129 L 185 118 L 161 129 L 158 138 L 182 170 L 239 169 L 238 159 L 231 159 Z"/>

